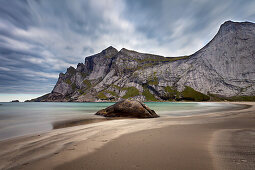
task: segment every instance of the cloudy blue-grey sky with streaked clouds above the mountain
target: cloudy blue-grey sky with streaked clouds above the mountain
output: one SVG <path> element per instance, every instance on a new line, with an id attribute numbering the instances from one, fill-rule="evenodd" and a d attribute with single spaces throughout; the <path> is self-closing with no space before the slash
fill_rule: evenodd
<path id="1" fill-rule="evenodd" d="M 0 0 L 0 102 L 51 92 L 60 72 L 113 46 L 190 55 L 254 0 Z"/>

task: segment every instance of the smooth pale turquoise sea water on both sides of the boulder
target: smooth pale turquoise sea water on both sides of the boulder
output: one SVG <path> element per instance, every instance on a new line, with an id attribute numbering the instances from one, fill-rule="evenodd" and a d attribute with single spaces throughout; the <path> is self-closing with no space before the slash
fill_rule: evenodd
<path id="1" fill-rule="evenodd" d="M 49 131 L 58 121 L 96 118 L 94 114 L 113 103 L 0 103 L 0 140 Z M 206 103 L 146 103 L 161 116 L 186 116 L 208 108 Z"/>

